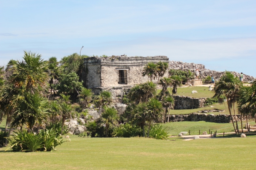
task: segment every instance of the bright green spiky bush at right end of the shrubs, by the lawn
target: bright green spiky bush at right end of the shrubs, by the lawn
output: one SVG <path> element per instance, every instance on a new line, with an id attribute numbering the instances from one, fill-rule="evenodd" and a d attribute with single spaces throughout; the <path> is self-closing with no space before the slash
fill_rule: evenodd
<path id="1" fill-rule="evenodd" d="M 149 131 L 149 137 L 154 139 L 163 139 L 166 140 L 169 138 L 166 127 L 163 128 L 162 125 L 156 124 L 151 126 Z"/>

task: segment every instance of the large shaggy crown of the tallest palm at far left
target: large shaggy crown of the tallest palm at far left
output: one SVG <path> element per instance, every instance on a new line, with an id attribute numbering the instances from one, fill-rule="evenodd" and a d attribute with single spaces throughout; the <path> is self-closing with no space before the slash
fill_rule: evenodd
<path id="1" fill-rule="evenodd" d="M 47 84 L 47 61 L 41 59 L 41 55 L 24 51 L 22 61 L 13 65 L 11 82 L 16 88 L 24 88 L 32 93 L 38 87 L 44 88 Z"/>

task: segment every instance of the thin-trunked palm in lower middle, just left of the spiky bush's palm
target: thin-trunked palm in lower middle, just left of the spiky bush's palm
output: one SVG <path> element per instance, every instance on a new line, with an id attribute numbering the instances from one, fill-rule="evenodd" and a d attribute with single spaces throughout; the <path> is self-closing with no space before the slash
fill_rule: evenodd
<path id="1" fill-rule="evenodd" d="M 143 130 L 143 137 L 145 137 L 145 125 L 146 125 L 145 111 L 146 110 L 147 110 L 147 104 L 142 102 L 136 105 L 132 111 L 134 113 L 135 123 L 139 125 Z"/>

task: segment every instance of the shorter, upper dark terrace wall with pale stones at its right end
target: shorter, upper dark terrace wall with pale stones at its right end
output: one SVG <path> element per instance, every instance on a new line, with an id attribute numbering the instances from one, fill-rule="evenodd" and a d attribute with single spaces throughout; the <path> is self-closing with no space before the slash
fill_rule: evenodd
<path id="1" fill-rule="evenodd" d="M 173 96 L 175 99 L 174 109 L 203 108 L 207 98 L 192 98 L 187 96 Z"/>

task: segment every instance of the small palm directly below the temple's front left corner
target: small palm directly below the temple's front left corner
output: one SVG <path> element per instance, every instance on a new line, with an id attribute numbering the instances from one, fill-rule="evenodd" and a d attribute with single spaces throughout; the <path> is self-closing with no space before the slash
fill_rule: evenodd
<path id="1" fill-rule="evenodd" d="M 95 100 L 96 107 L 102 108 L 106 105 L 110 105 L 113 102 L 112 94 L 110 91 L 102 91 Z"/>

